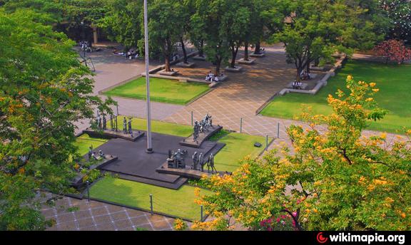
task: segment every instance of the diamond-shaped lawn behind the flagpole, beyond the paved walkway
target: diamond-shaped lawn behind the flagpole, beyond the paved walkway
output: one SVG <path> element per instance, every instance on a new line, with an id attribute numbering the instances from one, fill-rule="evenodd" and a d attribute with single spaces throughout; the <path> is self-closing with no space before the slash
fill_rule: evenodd
<path id="1" fill-rule="evenodd" d="M 183 83 L 177 80 L 150 78 L 151 100 L 163 103 L 186 105 L 190 100 L 207 92 L 207 84 Z M 146 100 L 146 78 L 141 77 L 108 90 L 105 95 Z"/>

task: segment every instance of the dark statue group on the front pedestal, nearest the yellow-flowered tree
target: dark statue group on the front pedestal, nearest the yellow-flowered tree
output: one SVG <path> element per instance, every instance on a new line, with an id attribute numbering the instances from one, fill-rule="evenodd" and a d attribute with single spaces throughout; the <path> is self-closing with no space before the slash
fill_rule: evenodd
<path id="1" fill-rule="evenodd" d="M 168 167 L 186 169 L 186 155 L 186 150 L 178 149 L 176 152 L 172 152 L 171 150 L 169 150 L 167 159 Z M 200 152 L 200 154 L 198 154 L 198 152 L 194 152 L 191 159 L 193 160 L 193 170 L 200 170 L 201 172 L 204 172 L 204 168 L 206 167 L 208 172 L 217 173 L 217 170 L 214 166 L 213 153 L 208 155 L 207 159 L 204 160 L 203 152 Z"/>

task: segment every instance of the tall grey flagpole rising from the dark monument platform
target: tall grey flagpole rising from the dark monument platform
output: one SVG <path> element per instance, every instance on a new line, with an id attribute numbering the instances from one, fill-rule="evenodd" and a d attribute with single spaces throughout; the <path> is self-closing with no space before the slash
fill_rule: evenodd
<path id="1" fill-rule="evenodd" d="M 144 0 L 144 42 L 146 56 L 146 90 L 147 90 L 147 153 L 153 153 L 151 145 L 151 105 L 150 105 L 150 72 L 148 71 L 148 17 L 147 0 Z"/>

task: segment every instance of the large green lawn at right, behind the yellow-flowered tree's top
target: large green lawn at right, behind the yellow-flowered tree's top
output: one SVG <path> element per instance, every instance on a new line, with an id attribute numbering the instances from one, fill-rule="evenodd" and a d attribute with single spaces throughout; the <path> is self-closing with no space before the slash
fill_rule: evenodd
<path id="1" fill-rule="evenodd" d="M 311 106 L 315 114 L 329 114 L 332 109 L 327 103 L 329 94 L 335 94 L 338 88 L 345 88 L 345 78 L 352 75 L 355 80 L 377 83 L 380 92 L 375 100 L 381 108 L 390 113 L 379 122 L 370 124 L 370 130 L 397 132 L 402 127 L 411 127 L 411 66 L 385 65 L 382 63 L 366 63 L 349 61 L 328 85 L 317 95 L 290 93 L 277 97 L 261 112 L 262 115 L 275 118 L 293 118 L 298 115 L 302 106 Z"/>

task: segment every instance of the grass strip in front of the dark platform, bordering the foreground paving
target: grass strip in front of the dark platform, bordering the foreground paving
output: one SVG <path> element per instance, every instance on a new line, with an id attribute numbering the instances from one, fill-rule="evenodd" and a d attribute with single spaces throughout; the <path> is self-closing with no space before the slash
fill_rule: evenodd
<path id="1" fill-rule="evenodd" d="M 199 220 L 200 206 L 194 202 L 195 187 L 183 185 L 178 190 L 156 187 L 125 179 L 104 177 L 90 188 L 90 196 L 108 202 L 150 210 L 150 194 L 153 194 L 153 210 L 191 220 Z M 201 194 L 211 194 L 202 189 Z"/>

